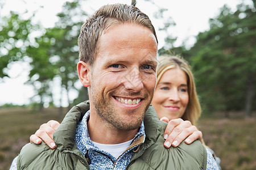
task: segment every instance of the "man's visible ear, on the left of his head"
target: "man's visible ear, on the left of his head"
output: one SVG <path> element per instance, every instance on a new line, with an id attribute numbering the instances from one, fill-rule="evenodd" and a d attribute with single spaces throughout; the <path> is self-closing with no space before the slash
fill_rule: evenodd
<path id="1" fill-rule="evenodd" d="M 90 65 L 84 61 L 79 61 L 77 63 L 77 73 L 79 74 L 79 79 L 82 83 L 82 86 L 90 86 Z"/>

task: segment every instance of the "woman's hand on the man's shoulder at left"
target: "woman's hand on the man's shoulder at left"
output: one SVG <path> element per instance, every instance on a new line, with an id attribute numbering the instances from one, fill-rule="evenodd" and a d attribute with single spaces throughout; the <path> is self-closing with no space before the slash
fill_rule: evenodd
<path id="1" fill-rule="evenodd" d="M 59 126 L 60 123 L 55 120 L 48 121 L 46 124 L 41 125 L 35 134 L 30 136 L 30 142 L 40 144 L 43 140 L 50 148 L 56 148 L 53 141 L 53 133 Z"/>

